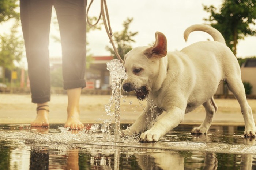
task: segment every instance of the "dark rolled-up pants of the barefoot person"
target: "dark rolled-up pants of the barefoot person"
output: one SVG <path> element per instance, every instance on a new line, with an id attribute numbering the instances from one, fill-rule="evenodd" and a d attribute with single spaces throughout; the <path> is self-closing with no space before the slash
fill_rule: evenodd
<path id="1" fill-rule="evenodd" d="M 52 6 L 60 28 L 64 89 L 84 88 L 87 0 L 20 0 L 33 103 L 50 101 L 49 32 Z"/>

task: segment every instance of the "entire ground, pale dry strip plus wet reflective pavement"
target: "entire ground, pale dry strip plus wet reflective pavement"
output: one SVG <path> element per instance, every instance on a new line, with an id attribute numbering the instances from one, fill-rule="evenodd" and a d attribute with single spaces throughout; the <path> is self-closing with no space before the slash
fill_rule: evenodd
<path id="1" fill-rule="evenodd" d="M 190 134 L 205 117 L 200 106 L 185 114 L 184 122 L 159 142 L 139 143 L 138 137 L 126 137 L 115 143 L 113 127 L 110 134 L 100 130 L 109 119 L 104 113 L 109 98 L 82 95 L 80 119 L 86 129 L 68 131 L 62 128 L 67 118 L 66 95 L 52 96 L 50 128 L 42 129 L 30 128 L 36 115 L 30 95 L 1 94 L 0 170 L 256 169 L 256 139 L 243 137 L 244 120 L 236 100 L 215 99 L 219 110 L 207 135 Z M 248 102 L 256 120 L 256 100 Z M 121 128 L 133 123 L 145 105 L 134 96 L 121 98 Z"/>

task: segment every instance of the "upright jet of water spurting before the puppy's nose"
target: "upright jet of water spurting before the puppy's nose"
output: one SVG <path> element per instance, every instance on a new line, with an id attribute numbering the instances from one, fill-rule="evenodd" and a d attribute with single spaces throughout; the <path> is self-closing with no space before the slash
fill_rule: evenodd
<path id="1" fill-rule="evenodd" d="M 110 120 L 104 121 L 105 126 L 109 127 L 112 122 L 112 116 L 115 116 L 115 132 L 114 142 L 120 142 L 120 98 L 121 98 L 121 79 L 126 79 L 127 74 L 125 73 L 124 66 L 120 63 L 120 60 L 113 59 L 107 63 L 107 69 L 109 70 L 112 88 L 112 96 L 109 99 L 109 104 L 105 105 L 105 112 L 110 116 Z M 114 112 L 112 106 L 114 106 Z M 104 128 L 103 131 L 109 131 Z M 102 131 L 102 132 L 103 132 Z"/>

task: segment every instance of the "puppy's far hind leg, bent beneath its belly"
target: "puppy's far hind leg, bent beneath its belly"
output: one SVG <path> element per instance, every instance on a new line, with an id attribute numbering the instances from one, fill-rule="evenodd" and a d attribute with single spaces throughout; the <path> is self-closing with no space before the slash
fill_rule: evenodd
<path id="1" fill-rule="evenodd" d="M 216 103 L 214 102 L 213 97 L 211 97 L 205 103 L 203 103 L 203 106 L 206 111 L 205 119 L 199 127 L 195 127 L 191 131 L 191 134 L 207 134 L 207 131 L 210 128 L 211 123 L 212 123 L 212 118 L 218 110 L 218 107 L 217 107 Z"/>

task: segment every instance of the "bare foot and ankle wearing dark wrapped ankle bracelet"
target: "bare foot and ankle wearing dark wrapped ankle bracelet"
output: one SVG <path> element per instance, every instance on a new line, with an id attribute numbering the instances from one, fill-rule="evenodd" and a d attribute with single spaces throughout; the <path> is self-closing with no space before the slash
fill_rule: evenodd
<path id="1" fill-rule="evenodd" d="M 47 106 L 44 106 L 47 105 Z M 42 106 L 42 107 L 40 107 Z M 40 107 L 42 110 L 37 110 L 37 117 L 33 122 L 31 122 L 31 127 L 49 127 L 49 120 L 48 120 L 48 114 L 49 114 L 49 106 L 48 102 L 45 103 L 37 103 L 37 107 Z M 46 109 L 46 110 L 44 110 Z"/>

